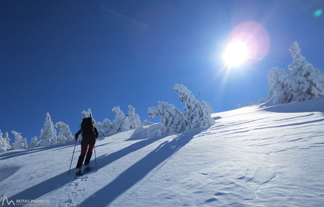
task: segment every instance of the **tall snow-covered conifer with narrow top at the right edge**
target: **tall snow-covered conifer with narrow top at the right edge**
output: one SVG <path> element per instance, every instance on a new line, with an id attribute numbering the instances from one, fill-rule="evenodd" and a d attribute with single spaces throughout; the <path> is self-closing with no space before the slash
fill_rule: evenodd
<path id="1" fill-rule="evenodd" d="M 296 41 L 289 48 L 293 62 L 289 65 L 293 101 L 305 101 L 324 96 L 324 73 L 314 68 L 301 54 Z"/>

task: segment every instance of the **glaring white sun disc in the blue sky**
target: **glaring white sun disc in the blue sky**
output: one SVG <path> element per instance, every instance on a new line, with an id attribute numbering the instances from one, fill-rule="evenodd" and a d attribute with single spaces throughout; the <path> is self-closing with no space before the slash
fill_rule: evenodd
<path id="1" fill-rule="evenodd" d="M 233 41 L 227 45 L 223 59 L 227 66 L 235 67 L 246 62 L 249 56 L 249 49 L 245 43 Z"/>

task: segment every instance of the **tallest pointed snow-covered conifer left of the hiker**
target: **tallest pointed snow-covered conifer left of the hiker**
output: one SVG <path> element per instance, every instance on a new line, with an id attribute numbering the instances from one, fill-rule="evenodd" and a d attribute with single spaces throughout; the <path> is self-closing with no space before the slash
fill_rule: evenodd
<path id="1" fill-rule="evenodd" d="M 50 113 L 46 113 L 44 129 L 40 131 L 39 146 L 55 145 L 56 142 L 56 130 L 51 120 Z"/>

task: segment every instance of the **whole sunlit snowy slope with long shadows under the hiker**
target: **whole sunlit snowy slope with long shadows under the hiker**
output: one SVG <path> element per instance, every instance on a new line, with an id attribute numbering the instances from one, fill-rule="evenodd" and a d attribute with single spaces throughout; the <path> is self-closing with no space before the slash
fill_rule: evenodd
<path id="1" fill-rule="evenodd" d="M 74 143 L 2 153 L 1 204 L 6 196 L 51 207 L 324 207 L 324 97 L 212 116 L 204 131 L 98 140 L 99 170 L 76 180 L 80 145 L 69 175 Z"/>

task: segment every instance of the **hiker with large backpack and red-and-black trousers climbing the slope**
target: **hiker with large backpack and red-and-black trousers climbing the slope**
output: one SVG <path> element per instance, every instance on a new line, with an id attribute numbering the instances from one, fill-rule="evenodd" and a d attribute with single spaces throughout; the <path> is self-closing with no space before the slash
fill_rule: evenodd
<path id="1" fill-rule="evenodd" d="M 84 158 L 86 157 L 86 160 L 84 162 L 84 170 L 89 171 L 90 170 L 90 159 L 92 155 L 92 150 L 94 148 L 94 144 L 96 143 L 96 139 L 98 137 L 98 131 L 94 127 L 94 120 L 92 119 L 92 116 L 83 118 L 81 123 L 81 129 L 76 132 L 75 134 L 75 140 L 78 139 L 79 134 L 82 133 L 82 141 L 81 141 L 81 154 L 79 156 L 78 164 L 75 168 L 75 175 L 80 176 L 81 173 L 81 167 Z M 89 148 L 88 148 L 89 146 Z M 88 150 L 88 152 L 87 152 Z M 87 156 L 86 156 L 87 155 Z"/>

